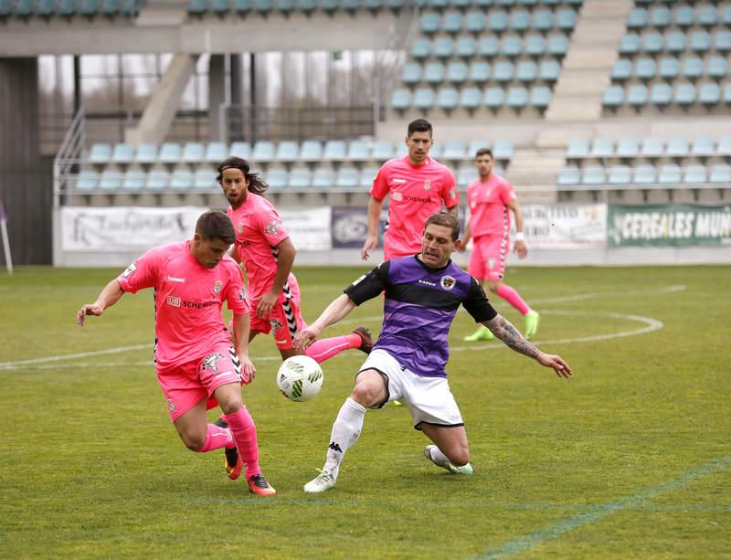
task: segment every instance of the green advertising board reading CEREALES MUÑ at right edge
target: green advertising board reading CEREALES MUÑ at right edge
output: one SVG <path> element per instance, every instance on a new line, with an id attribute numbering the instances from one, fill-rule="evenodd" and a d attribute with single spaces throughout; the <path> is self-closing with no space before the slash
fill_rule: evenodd
<path id="1" fill-rule="evenodd" d="M 731 245 L 731 206 L 609 206 L 611 247 Z"/>

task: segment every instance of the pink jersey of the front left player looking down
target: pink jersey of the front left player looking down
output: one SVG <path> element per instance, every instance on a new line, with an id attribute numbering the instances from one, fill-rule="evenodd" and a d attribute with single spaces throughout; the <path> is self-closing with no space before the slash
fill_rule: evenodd
<path id="1" fill-rule="evenodd" d="M 190 253 L 190 242 L 147 251 L 117 281 L 123 291 L 154 288 L 154 358 L 158 371 L 200 359 L 217 343 L 229 343 L 223 302 L 234 314 L 249 312 L 244 276 L 228 255 L 207 269 Z"/>

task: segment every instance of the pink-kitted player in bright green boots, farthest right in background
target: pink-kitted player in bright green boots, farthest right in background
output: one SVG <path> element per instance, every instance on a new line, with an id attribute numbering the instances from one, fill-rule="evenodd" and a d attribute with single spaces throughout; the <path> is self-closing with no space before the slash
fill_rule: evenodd
<path id="1" fill-rule="evenodd" d="M 515 215 L 514 251 L 520 259 L 528 254 L 523 235 L 523 215 L 513 185 L 493 173 L 493 152 L 488 148 L 477 151 L 475 166 L 480 178 L 467 186 L 467 204 L 470 206 L 470 221 L 464 230 L 463 251 L 472 238 L 472 254 L 467 267 L 470 275 L 482 282 L 487 281 L 490 291 L 510 303 L 524 317 L 525 338 L 530 340 L 538 329 L 540 315 L 533 311 L 518 291 L 503 282 L 505 259 L 510 250 L 510 211 Z M 467 342 L 492 340 L 493 333 L 484 325 L 464 338 Z"/>

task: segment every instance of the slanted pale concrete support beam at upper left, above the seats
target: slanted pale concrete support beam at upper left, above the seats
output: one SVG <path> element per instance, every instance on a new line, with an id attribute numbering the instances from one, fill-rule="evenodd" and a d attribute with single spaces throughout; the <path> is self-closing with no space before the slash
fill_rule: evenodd
<path id="1" fill-rule="evenodd" d="M 157 84 L 139 124 L 124 132 L 125 142 L 163 143 L 175 120 L 185 86 L 196 70 L 198 55 L 176 54 Z"/>

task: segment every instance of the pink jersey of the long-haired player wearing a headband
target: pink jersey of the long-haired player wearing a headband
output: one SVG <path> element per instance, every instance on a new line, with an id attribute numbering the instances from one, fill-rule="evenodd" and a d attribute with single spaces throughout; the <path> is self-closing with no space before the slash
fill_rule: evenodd
<path id="1" fill-rule="evenodd" d="M 270 201 L 255 193 L 249 193 L 236 210 L 228 206 L 226 213 L 236 228 L 236 248 L 249 280 L 249 299 L 258 300 L 270 291 L 277 276 L 276 246 L 290 234 Z"/>

